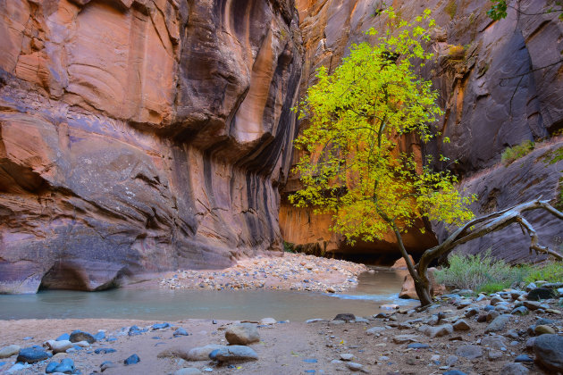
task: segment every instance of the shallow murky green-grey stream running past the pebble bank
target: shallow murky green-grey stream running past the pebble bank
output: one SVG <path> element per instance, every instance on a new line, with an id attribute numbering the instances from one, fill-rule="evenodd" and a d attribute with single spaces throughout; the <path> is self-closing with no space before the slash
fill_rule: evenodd
<path id="1" fill-rule="evenodd" d="M 278 321 L 332 319 L 337 313 L 358 316 L 382 310 L 382 304 L 415 306 L 399 299 L 404 271 L 375 269 L 362 273 L 346 294 L 277 290 L 169 290 L 121 288 L 104 292 L 46 290 L 36 295 L 0 296 L 0 320 L 108 318 L 180 321 L 182 319 Z"/>

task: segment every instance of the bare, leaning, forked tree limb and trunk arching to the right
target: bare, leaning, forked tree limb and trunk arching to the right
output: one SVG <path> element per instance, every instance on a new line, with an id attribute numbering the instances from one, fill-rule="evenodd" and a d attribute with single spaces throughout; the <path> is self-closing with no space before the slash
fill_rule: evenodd
<path id="1" fill-rule="evenodd" d="M 434 246 L 424 252 L 420 261 L 413 264 L 408 257 L 404 257 L 407 261 L 407 268 L 415 280 L 416 294 L 420 299 L 422 306 L 432 304 L 432 296 L 430 294 L 430 279 L 428 279 L 428 266 L 433 260 L 442 255 L 449 254 L 456 246 L 465 244 L 472 239 L 483 237 L 489 233 L 508 227 L 508 225 L 517 223 L 520 225 L 522 232 L 527 232 L 530 236 L 530 254 L 535 251 L 536 254 L 548 254 L 557 260 L 563 260 L 563 255 L 547 246 L 540 245 L 539 237 L 534 230 L 532 224 L 526 221 L 523 212 L 542 209 L 553 214 L 559 220 L 563 220 L 563 212 L 559 212 L 547 201 L 536 199 L 524 204 L 517 204 L 500 212 L 493 212 L 489 215 L 477 218 L 467 222 L 463 227 L 453 232 L 450 237 L 446 238 L 441 245 Z M 399 244 L 400 245 L 400 244 Z M 401 249 L 402 250 L 402 249 Z M 401 253 L 403 253 L 401 251 Z M 405 252 L 406 253 L 406 252 Z"/>

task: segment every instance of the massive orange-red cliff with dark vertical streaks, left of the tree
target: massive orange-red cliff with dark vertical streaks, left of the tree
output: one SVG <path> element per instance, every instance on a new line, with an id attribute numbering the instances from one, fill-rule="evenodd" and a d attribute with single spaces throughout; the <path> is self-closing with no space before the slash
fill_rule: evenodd
<path id="1" fill-rule="evenodd" d="M 0 293 L 281 248 L 291 0 L 0 2 Z"/>

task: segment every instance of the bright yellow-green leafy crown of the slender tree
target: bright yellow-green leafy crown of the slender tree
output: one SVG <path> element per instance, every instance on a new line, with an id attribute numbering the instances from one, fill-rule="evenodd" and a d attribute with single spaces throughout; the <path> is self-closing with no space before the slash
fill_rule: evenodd
<path id="1" fill-rule="evenodd" d="M 442 113 L 431 82 L 413 72 L 415 61 L 433 57 L 422 43 L 430 40 L 423 25 L 434 21 L 429 11 L 412 23 L 398 20 L 392 8 L 384 13 L 389 27 L 374 46 L 353 45 L 332 75 L 319 69 L 300 104 L 299 117 L 310 126 L 295 141 L 305 151 L 294 170 L 303 188 L 290 202 L 332 213 L 332 229 L 351 243 L 406 230 L 420 217 L 450 224 L 473 217 L 466 204 L 475 196 L 461 196 L 455 176 L 421 166 L 398 147 L 408 133 L 424 142 L 435 137 L 431 124 Z"/>

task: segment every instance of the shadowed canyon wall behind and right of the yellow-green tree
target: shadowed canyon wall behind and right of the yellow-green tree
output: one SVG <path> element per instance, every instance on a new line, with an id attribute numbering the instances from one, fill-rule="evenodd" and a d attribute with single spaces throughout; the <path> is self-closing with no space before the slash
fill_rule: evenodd
<path id="1" fill-rule="evenodd" d="M 301 95 L 315 82 L 318 67 L 333 71 L 352 43 L 374 41 L 366 37 L 365 31 L 384 28 L 385 20 L 375 15 L 380 4 L 371 0 L 297 1 L 305 47 Z M 543 151 L 563 146 L 557 136 L 563 129 L 563 68 L 557 63 L 563 50 L 563 22 L 557 20 L 557 14 L 526 16 L 509 9 L 507 19 L 492 21 L 486 15 L 491 2 L 486 0 L 397 0 L 392 5 L 408 20 L 428 8 L 438 25 L 428 46 L 435 60 L 419 71 L 433 80 L 441 94 L 445 114 L 438 128 L 442 137 L 450 137 L 451 142 L 425 145 L 423 153 L 458 160 L 453 169 L 462 179 L 461 187 L 466 188 L 466 194 L 478 196 L 472 205 L 476 215 L 538 196 L 556 204 L 563 184 L 559 181 L 561 162 L 550 164 L 548 155 L 538 151 L 505 167 L 500 164 L 500 155 L 506 147 L 526 140 L 549 139 L 549 149 Z M 521 4 L 521 12 L 537 13 L 534 7 L 539 5 Z M 299 124 L 306 126 L 306 121 Z M 416 145 L 405 147 L 414 149 Z M 294 154 L 293 163 L 298 157 L 298 153 Z M 345 255 L 399 257 L 389 234 L 382 242 L 346 246 L 342 237 L 327 230 L 330 218 L 313 218 L 312 210 L 293 208 L 283 199 L 298 187 L 297 177 L 290 175 L 282 190 L 281 232 L 288 241 Z M 560 221 L 539 214 L 531 214 L 530 219 L 544 245 L 556 249 L 562 246 Z M 300 225 L 296 226 L 296 222 Z M 448 234 L 447 229 L 435 223 L 433 229 L 439 239 Z M 406 245 L 412 253 L 420 254 L 436 243 L 436 237 L 423 236 L 415 229 L 408 234 Z M 528 238 L 515 227 L 468 243 L 460 251 L 476 253 L 491 247 L 493 255 L 510 262 L 541 259 L 530 256 L 528 246 Z"/>

